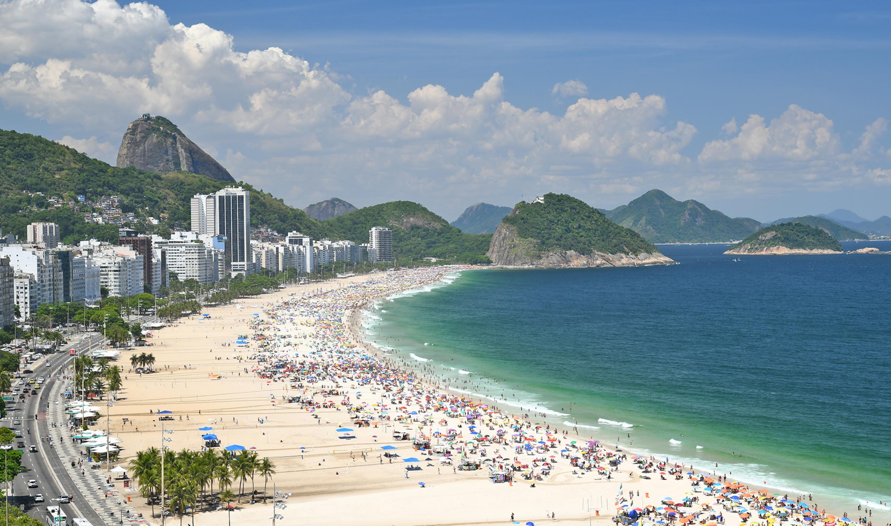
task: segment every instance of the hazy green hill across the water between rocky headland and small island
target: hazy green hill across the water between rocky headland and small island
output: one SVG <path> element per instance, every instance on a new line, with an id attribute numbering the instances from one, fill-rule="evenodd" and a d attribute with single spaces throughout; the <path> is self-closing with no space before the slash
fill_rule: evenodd
<path id="1" fill-rule="evenodd" d="M 729 241 L 761 228 L 754 219 L 732 218 L 693 199 L 678 201 L 662 190 L 650 190 L 605 214 L 652 243 Z"/>

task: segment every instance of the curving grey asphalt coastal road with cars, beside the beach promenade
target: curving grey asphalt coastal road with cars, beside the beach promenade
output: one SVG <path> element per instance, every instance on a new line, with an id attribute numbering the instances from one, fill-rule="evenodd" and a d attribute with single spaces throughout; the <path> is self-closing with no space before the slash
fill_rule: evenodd
<path id="1" fill-rule="evenodd" d="M 80 355 L 87 351 L 91 342 L 94 349 L 99 349 L 102 341 L 101 334 L 89 333 L 88 336 L 81 336 L 78 341 L 62 347 L 61 351 L 49 355 L 45 360 L 31 364 L 29 368 L 34 373 L 27 376 L 37 378 L 46 376 L 45 384 L 37 391 L 38 394 L 26 396 L 24 404 L 17 401 L 7 405 L 7 418 L 4 420 L 4 425 L 21 430 L 22 438 L 20 440 L 25 442 L 21 465 L 26 470 L 11 482 L 10 504 L 24 505 L 25 513 L 43 522 L 46 522 L 48 516 L 46 506 L 60 506 L 62 511 L 68 515 L 69 520 L 73 517 L 83 517 L 96 526 L 107 523 L 100 519 L 93 508 L 86 503 L 77 481 L 72 480 L 74 471 L 70 465 L 62 465 L 61 459 L 50 448 L 49 443 L 40 441 L 41 436 L 50 434 L 51 423 L 46 421 L 48 404 L 64 403 L 59 400 L 59 397 L 51 400 L 50 391 L 55 382 L 64 382 L 64 380 L 57 380 L 55 375 L 61 374 L 69 365 L 70 360 L 74 358 L 69 351 L 74 349 Z M 20 388 L 23 385 L 17 387 Z M 35 420 L 35 416 L 37 416 L 37 420 Z M 20 420 L 21 425 L 12 425 L 15 418 Z M 56 424 L 64 426 L 67 423 L 57 422 Z M 28 430 L 30 430 L 30 434 Z M 29 452 L 31 445 L 37 446 L 36 453 Z M 77 474 L 77 478 L 79 478 L 80 473 Z M 37 480 L 37 488 L 29 489 L 28 481 L 32 479 Z M 34 502 L 34 495 L 37 493 L 44 496 L 45 502 Z M 63 493 L 74 495 L 73 502 L 61 504 L 58 498 Z"/>

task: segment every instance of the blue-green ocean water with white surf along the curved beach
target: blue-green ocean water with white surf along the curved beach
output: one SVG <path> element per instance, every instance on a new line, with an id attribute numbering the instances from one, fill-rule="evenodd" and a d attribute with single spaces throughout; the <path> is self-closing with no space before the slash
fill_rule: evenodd
<path id="1" fill-rule="evenodd" d="M 891 255 L 724 248 L 455 273 L 379 302 L 368 338 L 535 421 L 891 521 Z"/>

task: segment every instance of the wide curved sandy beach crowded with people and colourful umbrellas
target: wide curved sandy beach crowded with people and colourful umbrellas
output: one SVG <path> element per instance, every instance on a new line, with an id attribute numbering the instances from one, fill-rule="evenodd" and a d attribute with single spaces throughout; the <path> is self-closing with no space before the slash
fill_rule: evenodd
<path id="1" fill-rule="evenodd" d="M 452 271 L 387 272 L 287 287 L 208 308 L 207 319 L 196 315 L 152 331 L 151 346 L 139 352 L 154 354 L 157 372 L 140 376 L 129 370 L 127 351 L 119 360 L 127 377 L 110 422 L 111 434 L 123 440 L 120 465 L 127 466 L 139 450 L 161 447 L 156 413 L 168 410 L 174 415 L 165 422 L 175 430 L 168 435 L 171 449 L 200 450 L 201 435 L 215 433 L 220 449 L 238 444 L 273 460 L 276 473 L 267 493 L 274 484 L 291 494 L 279 512 L 282 524 L 487 524 L 511 523 L 511 516 L 520 524 L 582 524 L 609 521 L 626 506 L 625 511 L 649 511 L 646 524 L 735 525 L 746 518 L 736 513 L 746 500 L 757 504 L 767 497 L 761 502 L 774 503 L 786 497 L 759 495 L 741 485 L 731 490 L 732 481 L 706 490 L 699 473 L 670 462 L 654 465 L 651 478 L 642 479 L 642 466 L 658 459 L 589 442 L 556 417 L 523 416 L 516 408 L 501 410 L 492 401 L 447 392 L 363 344 L 361 308 Z M 248 343 L 236 344 L 239 336 Z M 294 397 L 299 402 L 288 403 Z M 201 426 L 213 429 L 200 432 Z M 395 441 L 395 431 L 427 441 L 430 449 Z M 450 462 L 442 460 L 443 449 Z M 411 457 L 417 460 L 404 461 Z M 480 469 L 459 470 L 462 462 Z M 494 483 L 490 471 L 511 473 L 512 481 Z M 535 476 L 527 480 L 526 473 Z M 247 487 L 248 493 L 262 492 L 263 477 Z M 120 490 L 150 516 L 144 498 Z M 712 496 L 722 492 L 724 497 Z M 731 492 L 735 498 L 728 497 Z M 792 503 L 797 498 L 788 497 Z M 720 504 L 737 498 L 743 504 Z M 270 521 L 274 513 L 272 500 L 249 504 L 247 494 L 236 508 L 236 524 Z M 813 503 L 811 510 L 816 511 Z M 793 511 L 803 519 L 806 510 Z M 194 526 L 226 521 L 226 515 L 201 512 Z"/>

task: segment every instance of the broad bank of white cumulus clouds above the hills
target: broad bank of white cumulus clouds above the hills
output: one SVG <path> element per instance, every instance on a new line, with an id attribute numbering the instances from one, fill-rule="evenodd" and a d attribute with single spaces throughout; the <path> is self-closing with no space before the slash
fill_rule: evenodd
<path id="1" fill-rule="evenodd" d="M 223 152 L 237 180 L 300 206 L 339 195 L 460 211 L 468 199 L 512 204 L 551 190 L 594 201 L 657 185 L 755 191 L 777 174 L 797 184 L 812 183 L 803 174 L 887 180 L 868 165 L 887 152 L 884 119 L 845 153 L 829 117 L 793 104 L 770 122 L 732 119 L 692 163 L 697 129 L 666 117 L 658 94 L 588 98 L 583 82 L 568 80 L 552 88 L 566 109 L 548 112 L 508 100 L 511 79 L 499 72 L 472 93 L 432 84 L 356 93 L 347 73 L 315 64 L 324 57 L 244 51 L 235 38 L 172 24 L 145 2 L 0 0 L 0 104 L 64 127 L 61 142 L 110 162 L 127 123 L 144 112 L 169 117 Z M 105 135 L 112 129 L 120 133 Z"/>

